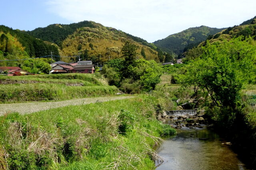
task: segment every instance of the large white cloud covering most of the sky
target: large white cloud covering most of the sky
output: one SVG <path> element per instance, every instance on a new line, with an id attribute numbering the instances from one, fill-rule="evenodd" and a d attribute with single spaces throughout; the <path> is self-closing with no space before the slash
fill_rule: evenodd
<path id="1" fill-rule="evenodd" d="M 256 15 L 255 0 L 46 0 L 54 14 L 95 21 L 149 42 L 189 27 L 229 27 Z"/>

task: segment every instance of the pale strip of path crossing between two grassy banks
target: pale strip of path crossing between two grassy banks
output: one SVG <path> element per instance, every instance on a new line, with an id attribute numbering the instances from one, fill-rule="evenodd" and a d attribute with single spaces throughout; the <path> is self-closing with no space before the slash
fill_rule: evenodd
<path id="1" fill-rule="evenodd" d="M 17 103 L 17 104 L 0 104 L 0 115 L 9 112 L 18 112 L 20 114 L 33 113 L 36 111 L 47 110 L 57 107 L 64 107 L 70 105 L 83 105 L 95 102 L 107 102 L 111 100 L 121 100 L 127 98 L 134 98 L 134 96 L 112 96 L 100 98 L 83 98 L 72 99 L 60 102 L 31 102 L 31 103 Z"/>

